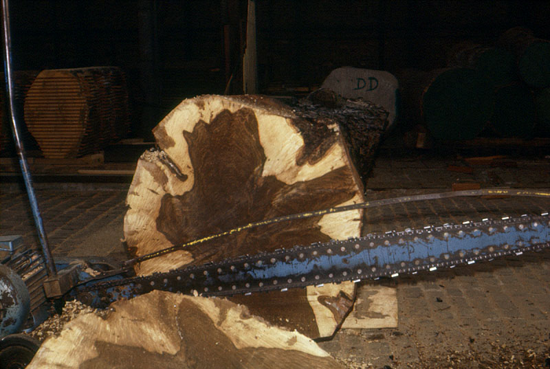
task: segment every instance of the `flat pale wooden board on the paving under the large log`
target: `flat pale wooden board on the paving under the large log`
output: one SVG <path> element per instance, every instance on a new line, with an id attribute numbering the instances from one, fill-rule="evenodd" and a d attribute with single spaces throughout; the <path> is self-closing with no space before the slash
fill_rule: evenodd
<path id="1" fill-rule="evenodd" d="M 360 287 L 342 328 L 397 328 L 397 289 L 377 284 Z"/>

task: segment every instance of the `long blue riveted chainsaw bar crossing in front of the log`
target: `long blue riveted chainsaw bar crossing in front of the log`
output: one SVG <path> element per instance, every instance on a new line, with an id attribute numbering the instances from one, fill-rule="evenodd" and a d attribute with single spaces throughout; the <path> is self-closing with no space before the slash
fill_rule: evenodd
<path id="1" fill-rule="evenodd" d="M 104 306 L 155 289 L 204 296 L 287 291 L 452 268 L 545 247 L 550 247 L 548 213 L 295 246 L 150 276 L 96 282 L 75 293 L 92 306 Z"/>

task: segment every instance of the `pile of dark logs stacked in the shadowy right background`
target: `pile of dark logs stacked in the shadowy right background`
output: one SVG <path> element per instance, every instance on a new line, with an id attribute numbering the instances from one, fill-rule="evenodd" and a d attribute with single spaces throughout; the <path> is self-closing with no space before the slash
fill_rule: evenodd
<path id="1" fill-rule="evenodd" d="M 548 134 L 550 41 L 524 27 L 502 34 L 495 47 L 459 43 L 448 52 L 446 69 L 401 71 L 399 84 L 404 115 L 435 139 Z"/>

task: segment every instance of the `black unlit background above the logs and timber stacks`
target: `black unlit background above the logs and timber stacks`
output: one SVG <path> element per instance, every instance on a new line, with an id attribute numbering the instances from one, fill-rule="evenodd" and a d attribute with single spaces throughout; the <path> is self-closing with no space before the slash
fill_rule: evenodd
<path id="1" fill-rule="evenodd" d="M 132 135 L 146 136 L 184 98 L 242 91 L 246 8 L 245 0 L 12 0 L 14 69 L 121 67 Z M 549 39 L 549 19 L 550 1 L 256 0 L 259 89 L 311 90 L 344 65 L 443 67 L 457 42 L 491 45 L 517 25 Z"/>

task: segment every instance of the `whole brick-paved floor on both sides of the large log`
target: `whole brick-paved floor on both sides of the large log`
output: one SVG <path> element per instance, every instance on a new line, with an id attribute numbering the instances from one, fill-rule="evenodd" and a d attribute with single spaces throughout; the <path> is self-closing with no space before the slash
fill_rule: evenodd
<path id="1" fill-rule="evenodd" d="M 3 179 L 0 232 L 22 234 L 26 243 L 36 245 L 26 194 Z M 467 161 L 430 152 L 392 153 L 386 147 L 375 161 L 366 194 L 380 199 L 448 191 L 453 183 L 550 188 L 550 159 Z M 128 183 L 36 183 L 54 256 L 122 260 L 127 188 Z M 367 212 L 365 232 L 547 210 L 549 199 L 408 203 Z M 550 367 L 550 251 L 373 283 L 397 289 L 399 323 L 397 328 L 342 329 L 319 343 L 348 368 Z"/>

